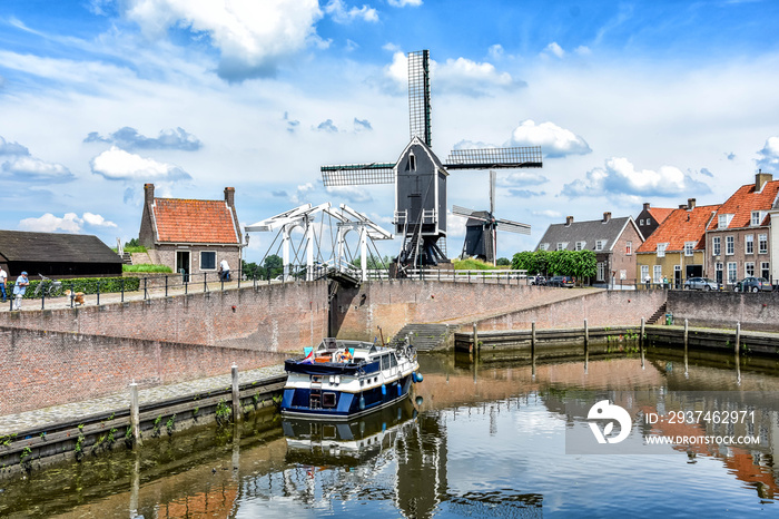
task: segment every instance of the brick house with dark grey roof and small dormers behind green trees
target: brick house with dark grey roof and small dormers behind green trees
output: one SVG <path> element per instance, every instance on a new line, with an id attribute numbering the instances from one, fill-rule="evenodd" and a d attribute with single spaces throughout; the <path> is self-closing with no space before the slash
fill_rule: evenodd
<path id="1" fill-rule="evenodd" d="M 552 224 L 544 233 L 536 251 L 584 251 L 595 253 L 596 285 L 632 285 L 635 280 L 634 252 L 643 243 L 631 216 L 612 218 L 603 213 L 602 219 L 574 222 L 568 216 L 564 224 Z"/>

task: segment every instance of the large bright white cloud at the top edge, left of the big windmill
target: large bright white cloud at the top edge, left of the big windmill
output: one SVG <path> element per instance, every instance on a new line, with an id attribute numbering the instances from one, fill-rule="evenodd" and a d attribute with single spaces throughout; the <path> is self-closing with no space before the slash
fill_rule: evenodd
<path id="1" fill-rule="evenodd" d="M 148 38 L 183 28 L 214 46 L 221 55 L 217 72 L 228 81 L 274 76 L 280 60 L 316 43 L 314 25 L 322 18 L 317 0 L 127 0 L 120 6 Z"/>

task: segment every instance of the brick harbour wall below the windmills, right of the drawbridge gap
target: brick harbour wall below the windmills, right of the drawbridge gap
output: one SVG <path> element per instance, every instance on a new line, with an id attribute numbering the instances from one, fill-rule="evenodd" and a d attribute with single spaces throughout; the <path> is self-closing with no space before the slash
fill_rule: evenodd
<path id="1" fill-rule="evenodd" d="M 568 290 L 568 288 L 566 288 Z M 485 330 L 639 324 L 664 302 L 663 291 L 578 291 L 573 301 L 549 303 L 550 288 L 525 285 L 391 281 L 339 291 L 333 316 L 338 336 L 372 341 L 382 326 L 393 336 L 407 323 L 483 323 Z M 535 310 L 524 310 L 541 305 Z M 494 317 L 493 317 L 494 316 Z M 543 324 L 541 324 L 543 323 Z M 481 326 L 481 324 L 480 324 Z"/>

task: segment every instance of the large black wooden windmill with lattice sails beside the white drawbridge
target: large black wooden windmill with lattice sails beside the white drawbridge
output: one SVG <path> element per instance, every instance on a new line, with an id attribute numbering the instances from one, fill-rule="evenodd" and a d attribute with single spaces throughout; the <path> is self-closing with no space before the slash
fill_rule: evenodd
<path id="1" fill-rule="evenodd" d="M 446 164 L 431 149 L 430 51 L 408 53 L 411 141 L 394 163 L 322 166 L 326 187 L 395 184 L 397 263 L 417 267 L 446 262 L 446 178 L 450 169 L 542 167 L 539 146 L 454 149 Z"/>

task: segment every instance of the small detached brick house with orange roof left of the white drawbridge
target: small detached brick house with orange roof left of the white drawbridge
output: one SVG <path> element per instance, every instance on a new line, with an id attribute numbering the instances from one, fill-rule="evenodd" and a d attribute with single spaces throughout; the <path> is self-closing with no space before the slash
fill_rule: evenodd
<path id="1" fill-rule="evenodd" d="M 187 275 L 216 274 L 223 260 L 231 271 L 240 268 L 234 187 L 225 187 L 224 200 L 155 198 L 154 184 L 145 184 L 144 192 L 138 241 L 152 262 Z"/>

